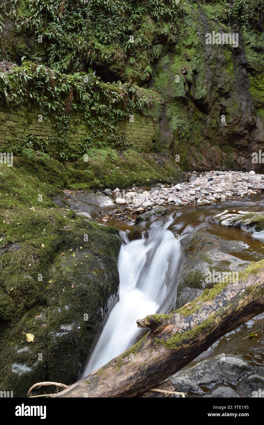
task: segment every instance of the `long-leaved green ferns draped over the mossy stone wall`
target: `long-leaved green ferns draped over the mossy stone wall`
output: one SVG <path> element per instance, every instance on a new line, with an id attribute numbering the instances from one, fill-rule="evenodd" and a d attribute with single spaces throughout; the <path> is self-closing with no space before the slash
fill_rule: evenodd
<path id="1" fill-rule="evenodd" d="M 20 104 L 38 105 L 43 119 L 52 122 L 58 130 L 56 139 L 30 137 L 36 146 L 56 144 L 69 148 L 70 112 L 75 111 L 86 121 L 90 132 L 80 145 L 71 147 L 71 156 L 80 156 L 90 147 L 124 147 L 126 141 L 117 135 L 118 122 L 127 119 L 134 109 L 158 119 L 161 98 L 151 90 L 138 88 L 131 83 L 104 83 L 94 73 L 61 74 L 43 65 L 23 62 L 7 74 L 0 72 L 0 94 L 3 106 L 16 108 Z M 72 132 L 75 132 L 75 126 Z M 22 147 L 28 144 L 28 139 Z M 22 147 L 9 149 L 21 152 Z"/>

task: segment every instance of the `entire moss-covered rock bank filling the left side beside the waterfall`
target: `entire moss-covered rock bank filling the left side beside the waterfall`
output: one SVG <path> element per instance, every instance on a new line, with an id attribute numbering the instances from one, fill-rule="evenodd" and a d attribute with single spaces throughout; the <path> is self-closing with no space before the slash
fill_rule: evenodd
<path id="1" fill-rule="evenodd" d="M 0 175 L 0 389 L 25 397 L 36 382 L 78 379 L 118 299 L 121 241 L 53 203 L 66 181 L 58 161 L 14 158 Z"/>

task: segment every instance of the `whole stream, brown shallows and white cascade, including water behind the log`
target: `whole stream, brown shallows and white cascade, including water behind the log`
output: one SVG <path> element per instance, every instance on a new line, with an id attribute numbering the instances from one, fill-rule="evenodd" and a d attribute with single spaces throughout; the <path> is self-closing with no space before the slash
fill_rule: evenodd
<path id="1" fill-rule="evenodd" d="M 264 201 L 261 194 L 243 200 L 230 200 L 224 204 L 167 208 L 169 212 L 166 215 L 156 215 L 139 224 L 114 217 L 108 221 L 107 225 L 117 227 L 123 239 L 118 259 L 119 302 L 109 314 L 84 368 L 83 377 L 136 342 L 142 332 L 136 327 L 137 319 L 147 314 L 167 313 L 175 309 L 183 252 L 199 229 L 206 229 L 209 234 L 226 242 L 232 241 L 228 253 L 240 260 L 258 261 L 264 258 L 264 241 L 253 239 L 252 232 L 224 227 L 210 221 L 214 215 L 224 210 L 263 211 Z M 106 225 L 101 218 L 97 221 Z M 178 238 L 175 238 L 176 234 L 179 235 Z M 241 244 L 243 249 L 236 249 L 236 246 Z M 209 246 L 208 248 L 210 249 Z M 264 316 L 259 316 L 255 321 L 250 320 L 236 331 L 222 337 L 183 370 L 222 353 L 242 356 L 247 359 L 253 371 L 262 370 Z M 251 333 L 253 328 L 258 331 L 258 339 L 245 342 L 243 338 Z M 233 388 L 237 389 L 234 385 Z M 203 388 L 202 392 L 206 391 L 208 388 Z M 197 394 L 199 392 L 197 391 Z M 197 396 L 195 393 L 194 391 L 193 396 Z"/>

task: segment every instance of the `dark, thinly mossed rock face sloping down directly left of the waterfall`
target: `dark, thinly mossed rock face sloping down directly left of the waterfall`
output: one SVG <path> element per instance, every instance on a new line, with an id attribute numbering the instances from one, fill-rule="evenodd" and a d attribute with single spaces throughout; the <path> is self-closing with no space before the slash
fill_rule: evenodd
<path id="1" fill-rule="evenodd" d="M 5 374 L 0 376 L 0 388 L 12 388 L 14 397 L 26 397 L 36 382 L 78 380 L 118 300 L 121 240 L 117 229 L 79 217 L 63 232 L 63 255 L 60 247 L 41 270 L 42 303 L 28 308 L 23 321 L 6 323 L 1 330 L 0 361 Z M 34 342 L 28 344 L 22 331 L 32 333 Z"/>

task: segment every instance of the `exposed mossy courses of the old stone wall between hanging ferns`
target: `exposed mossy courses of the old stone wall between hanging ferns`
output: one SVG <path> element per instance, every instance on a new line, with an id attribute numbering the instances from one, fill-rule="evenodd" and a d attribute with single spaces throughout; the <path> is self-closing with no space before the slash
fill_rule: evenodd
<path id="1" fill-rule="evenodd" d="M 4 150 L 6 144 L 18 144 L 27 134 L 33 134 L 41 139 L 60 137 L 56 129 L 48 120 L 38 122 L 41 112 L 33 107 L 31 111 L 26 106 L 20 105 L 16 110 L 0 106 L 0 146 Z M 70 146 L 79 144 L 89 134 L 89 126 L 74 111 L 69 120 L 67 139 Z M 139 148 L 142 152 L 154 150 L 154 142 L 158 140 L 158 124 L 153 119 L 135 113 L 133 122 L 122 121 L 119 123 L 119 135 L 124 134 L 131 147 Z M 61 151 L 61 147 L 49 145 L 50 151 Z"/>

